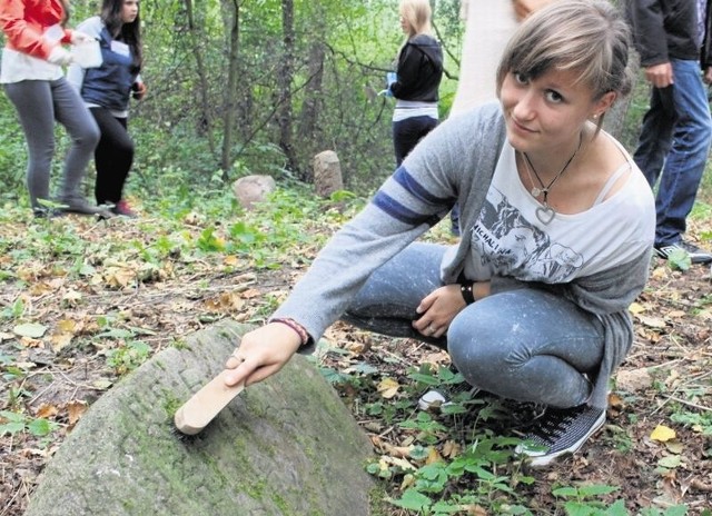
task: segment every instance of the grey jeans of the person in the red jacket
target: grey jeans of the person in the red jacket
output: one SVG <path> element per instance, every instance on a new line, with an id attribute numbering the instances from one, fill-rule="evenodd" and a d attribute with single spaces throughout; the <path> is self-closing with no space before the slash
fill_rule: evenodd
<path id="1" fill-rule="evenodd" d="M 55 121 L 67 129 L 71 146 L 65 158 L 59 200 L 83 198 L 81 180 L 87 171 L 99 128 L 77 91 L 61 79 L 26 80 L 4 85 L 20 118 L 28 147 L 27 187 L 32 208 L 38 199 L 50 199 L 49 178 L 55 156 Z"/>

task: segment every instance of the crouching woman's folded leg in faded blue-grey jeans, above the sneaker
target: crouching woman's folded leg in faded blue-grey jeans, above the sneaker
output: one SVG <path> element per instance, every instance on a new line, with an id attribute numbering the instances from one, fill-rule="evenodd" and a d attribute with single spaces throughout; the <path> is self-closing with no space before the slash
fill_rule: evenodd
<path id="1" fill-rule="evenodd" d="M 603 357 L 603 327 L 573 302 L 525 288 L 467 306 L 447 331 L 453 364 L 475 387 L 518 401 L 584 404 Z"/>

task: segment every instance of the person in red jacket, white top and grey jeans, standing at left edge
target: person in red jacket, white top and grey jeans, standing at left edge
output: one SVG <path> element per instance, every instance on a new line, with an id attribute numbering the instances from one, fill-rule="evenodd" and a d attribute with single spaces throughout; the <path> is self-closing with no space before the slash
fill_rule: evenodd
<path id="1" fill-rule="evenodd" d="M 29 151 L 27 187 L 36 217 L 56 215 L 41 200 L 50 200 L 49 183 L 55 153 L 55 120 L 71 137 L 62 181 L 55 200 L 62 211 L 102 215 L 80 192 L 81 180 L 95 147 L 99 128 L 79 95 L 67 82 L 62 66 L 71 53 L 62 47 L 89 38 L 67 26 L 66 0 L 3 0 L 0 27 L 6 34 L 0 83 L 13 103 Z"/>

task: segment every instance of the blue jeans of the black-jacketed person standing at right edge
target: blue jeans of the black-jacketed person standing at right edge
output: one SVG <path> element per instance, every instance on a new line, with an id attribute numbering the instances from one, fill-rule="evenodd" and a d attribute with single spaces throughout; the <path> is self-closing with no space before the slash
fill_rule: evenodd
<path id="1" fill-rule="evenodd" d="M 654 187 L 655 246 L 679 244 L 704 172 L 712 118 L 700 63 L 671 59 L 674 85 L 653 88 L 643 117 L 635 163 Z"/>

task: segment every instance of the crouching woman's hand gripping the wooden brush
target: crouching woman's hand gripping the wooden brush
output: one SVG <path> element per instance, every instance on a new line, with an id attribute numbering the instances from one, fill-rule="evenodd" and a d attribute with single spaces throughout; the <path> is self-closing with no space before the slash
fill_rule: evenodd
<path id="1" fill-rule="evenodd" d="M 299 335 L 283 322 L 249 331 L 225 364 L 226 369 L 231 369 L 225 383 L 234 386 L 245 380 L 248 386 L 261 381 L 281 369 L 300 345 Z"/>

